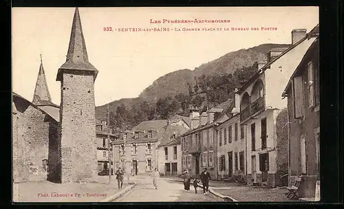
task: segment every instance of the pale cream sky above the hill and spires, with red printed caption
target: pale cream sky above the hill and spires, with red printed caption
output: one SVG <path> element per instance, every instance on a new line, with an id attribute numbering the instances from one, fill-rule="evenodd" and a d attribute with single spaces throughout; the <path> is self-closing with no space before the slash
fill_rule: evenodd
<path id="1" fill-rule="evenodd" d="M 57 70 L 65 63 L 75 8 L 12 8 L 12 90 L 32 101 L 40 54 L 52 102 L 60 104 Z M 79 8 L 89 62 L 99 73 L 96 106 L 135 98 L 154 80 L 195 69 L 228 52 L 264 43 L 291 43 L 291 31 L 319 23 L 318 7 Z M 152 20 L 229 20 L 229 23 L 151 23 Z M 112 32 L 104 28 L 112 28 Z M 277 28 L 277 30 L 261 30 Z M 169 28 L 169 32 L 120 32 Z M 180 28 L 181 31 L 172 30 Z M 201 31 L 182 31 L 200 28 Z M 202 28 L 222 28 L 202 31 Z M 225 30 L 229 28 L 229 30 Z M 249 30 L 230 30 L 249 28 Z M 251 30 L 259 28 L 259 30 Z"/>

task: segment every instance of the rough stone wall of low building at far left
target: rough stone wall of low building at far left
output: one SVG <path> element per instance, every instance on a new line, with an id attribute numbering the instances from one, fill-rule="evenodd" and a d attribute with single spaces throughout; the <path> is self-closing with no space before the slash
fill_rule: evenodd
<path id="1" fill-rule="evenodd" d="M 14 182 L 46 180 L 49 168 L 44 162 L 54 166 L 58 159 L 58 155 L 49 155 L 50 142 L 56 141 L 57 122 L 21 98 L 14 98 L 14 106 Z"/>

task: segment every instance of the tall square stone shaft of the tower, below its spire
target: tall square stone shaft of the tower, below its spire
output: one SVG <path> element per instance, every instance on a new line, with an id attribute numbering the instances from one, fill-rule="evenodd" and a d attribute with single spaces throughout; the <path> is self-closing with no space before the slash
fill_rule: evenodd
<path id="1" fill-rule="evenodd" d="M 97 144 L 91 72 L 63 74 L 60 122 L 61 182 L 95 181 Z"/>

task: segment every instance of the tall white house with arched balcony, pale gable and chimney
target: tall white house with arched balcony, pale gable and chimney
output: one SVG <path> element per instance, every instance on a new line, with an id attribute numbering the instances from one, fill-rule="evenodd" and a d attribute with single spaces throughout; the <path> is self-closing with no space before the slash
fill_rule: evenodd
<path id="1" fill-rule="evenodd" d="M 288 120 L 283 113 L 287 102 L 278 98 L 314 39 L 303 29 L 293 30 L 292 45 L 284 51 L 269 52 L 268 63 L 260 63 L 257 72 L 238 91 L 240 123 L 247 133 L 248 183 L 278 186 L 282 183 L 279 176 L 288 173 Z M 277 134 L 281 121 L 286 124 Z"/>

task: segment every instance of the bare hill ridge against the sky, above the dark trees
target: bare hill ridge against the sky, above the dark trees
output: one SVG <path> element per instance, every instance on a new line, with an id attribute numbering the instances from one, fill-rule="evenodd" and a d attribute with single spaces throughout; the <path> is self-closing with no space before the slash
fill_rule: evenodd
<path id="1" fill-rule="evenodd" d="M 155 80 L 149 87 L 144 89 L 138 98 L 122 98 L 109 103 L 112 111 L 116 112 L 116 107 L 125 104 L 130 109 L 132 105 L 138 105 L 144 100 L 153 103 L 156 98 L 162 98 L 167 95 L 189 94 L 188 83 L 195 84 L 195 76 L 211 75 L 218 73 L 233 73 L 236 69 L 248 67 L 255 62 L 266 61 L 268 52 L 275 47 L 289 47 L 288 44 L 266 43 L 249 49 L 237 50 L 224 54 L 214 61 L 204 63 L 194 70 L 180 69 L 161 76 Z M 107 105 L 96 107 L 96 118 L 101 120 L 105 118 Z"/>

